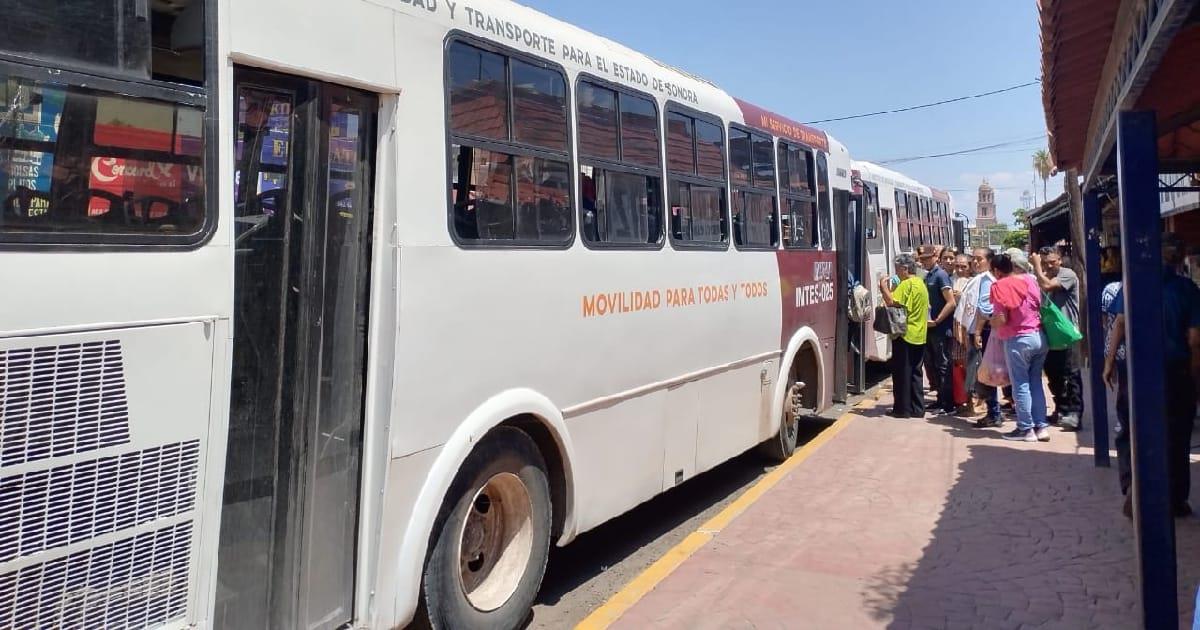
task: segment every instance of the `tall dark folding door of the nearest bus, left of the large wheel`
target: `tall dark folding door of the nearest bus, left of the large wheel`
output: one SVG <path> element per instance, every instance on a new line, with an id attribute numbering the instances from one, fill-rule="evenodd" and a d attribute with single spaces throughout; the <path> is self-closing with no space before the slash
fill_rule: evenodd
<path id="1" fill-rule="evenodd" d="M 374 96 L 238 68 L 234 344 L 214 625 L 350 623 Z"/>

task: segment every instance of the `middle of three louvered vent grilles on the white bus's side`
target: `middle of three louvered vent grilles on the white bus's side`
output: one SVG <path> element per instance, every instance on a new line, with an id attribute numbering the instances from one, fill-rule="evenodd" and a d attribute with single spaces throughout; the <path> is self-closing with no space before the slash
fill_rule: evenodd
<path id="1" fill-rule="evenodd" d="M 0 562 L 191 510 L 199 442 L 0 479 Z"/>

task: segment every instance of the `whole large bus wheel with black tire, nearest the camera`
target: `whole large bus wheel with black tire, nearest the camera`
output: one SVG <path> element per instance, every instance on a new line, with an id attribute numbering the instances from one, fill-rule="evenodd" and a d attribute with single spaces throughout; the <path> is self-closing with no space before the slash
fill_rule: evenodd
<path id="1" fill-rule="evenodd" d="M 551 510 L 534 440 L 514 427 L 488 433 L 442 505 L 418 620 L 437 630 L 520 628 L 546 571 Z"/>

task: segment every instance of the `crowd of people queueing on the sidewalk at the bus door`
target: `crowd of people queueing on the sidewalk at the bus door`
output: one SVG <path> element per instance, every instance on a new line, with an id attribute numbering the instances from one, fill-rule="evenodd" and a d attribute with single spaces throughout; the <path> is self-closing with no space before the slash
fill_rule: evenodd
<path id="1" fill-rule="evenodd" d="M 1004 407 L 1016 415 L 1016 427 L 1004 438 L 1046 442 L 1051 424 L 1064 431 L 1080 428 L 1078 348 L 1050 350 L 1040 317 L 1042 299 L 1048 296 L 1079 325 L 1079 278 L 1062 265 L 1057 250 L 1043 248 L 1027 258 L 1015 248 L 997 256 L 979 247 L 968 257 L 953 248 L 922 246 L 916 258 L 898 257 L 895 266 L 895 277 L 880 278 L 884 302 L 902 307 L 907 323 L 893 343 L 893 416 L 924 418 L 924 368 L 940 413 L 971 418 L 978 414 L 979 400 L 985 413 L 976 426 L 1002 426 L 996 388 L 976 378 L 988 344 L 995 341 L 1003 343 L 1012 383 L 1004 388 L 1009 400 Z M 1055 413 L 1049 415 L 1043 372 L 1055 401 Z"/>

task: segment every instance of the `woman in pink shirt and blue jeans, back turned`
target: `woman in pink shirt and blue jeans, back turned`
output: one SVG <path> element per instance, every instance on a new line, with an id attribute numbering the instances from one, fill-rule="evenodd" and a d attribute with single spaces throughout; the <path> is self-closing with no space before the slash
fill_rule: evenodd
<path id="1" fill-rule="evenodd" d="M 1032 275 L 1016 269 L 1007 253 L 991 259 L 991 304 L 995 308 L 991 325 L 995 336 L 1004 342 L 1004 361 L 1013 380 L 1013 401 L 1016 407 L 1016 428 L 1004 433 L 1004 439 L 1050 442 L 1046 428 L 1046 397 L 1042 386 L 1042 366 L 1050 344 L 1042 331 L 1042 290 Z"/>

